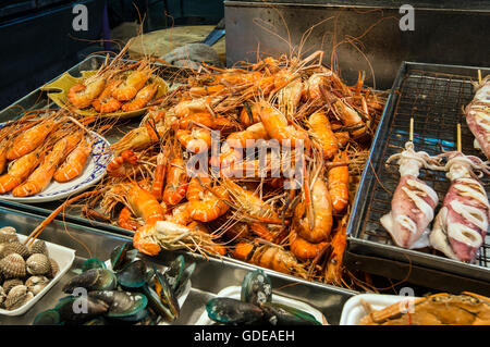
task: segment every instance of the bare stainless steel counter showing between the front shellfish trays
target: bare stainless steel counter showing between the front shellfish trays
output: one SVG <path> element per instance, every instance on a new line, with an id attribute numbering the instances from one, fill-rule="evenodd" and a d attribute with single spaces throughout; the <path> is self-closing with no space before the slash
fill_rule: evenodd
<path id="1" fill-rule="evenodd" d="M 28 235 L 41 221 L 42 219 L 35 214 L 0 208 L 0 227 L 14 226 L 20 234 Z M 61 221 L 51 223 L 41 233 L 40 238 L 75 249 L 76 258 L 72 269 L 29 311 L 19 317 L 0 317 L 0 324 L 32 324 L 37 313 L 53 308 L 57 301 L 65 296 L 61 288 L 75 275 L 74 269 L 79 268 L 89 257 L 107 260 L 115 246 L 131 241 L 130 237 Z M 88 247 L 90 255 L 87 253 L 79 241 Z M 154 262 L 157 267 L 161 267 L 168 265 L 180 253 L 162 251 L 158 257 L 148 258 L 142 255 L 142 258 L 148 263 Z M 179 320 L 173 323 L 175 325 L 194 324 L 205 311 L 205 305 L 209 299 L 225 287 L 241 285 L 244 275 L 248 271 L 257 269 L 253 265 L 233 263 L 226 259 L 207 260 L 194 253 L 182 252 L 182 255 L 184 255 L 186 262 L 196 262 L 196 270 L 191 278 L 191 293 L 181 309 Z M 309 303 L 321 311 L 330 324 L 339 324 L 344 302 L 357 294 L 332 286 L 296 281 L 268 270 L 265 271 L 271 277 L 273 293 Z"/>

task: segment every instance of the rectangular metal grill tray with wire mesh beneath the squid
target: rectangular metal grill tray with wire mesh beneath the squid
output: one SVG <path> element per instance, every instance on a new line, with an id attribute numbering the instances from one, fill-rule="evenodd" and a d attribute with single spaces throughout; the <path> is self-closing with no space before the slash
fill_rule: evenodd
<path id="1" fill-rule="evenodd" d="M 490 73 L 488 69 L 480 71 L 482 76 Z M 487 235 L 476 263 L 465 264 L 448 259 L 431 248 L 406 250 L 395 246 L 379 221 L 391 210 L 391 199 L 400 181 L 396 162 L 385 165 L 385 161 L 402 151 L 409 140 L 411 117 L 414 119 L 416 151 L 426 151 L 432 156 L 442 150 L 456 150 L 456 126 L 460 123 L 463 152 L 485 159 L 485 154 L 474 148 L 475 137 L 463 113 L 463 108 L 474 98 L 471 82 L 478 79 L 477 72 L 477 67 L 402 64 L 356 196 L 348 226 L 351 251 L 490 281 L 490 235 Z M 438 193 L 440 202 L 437 213 L 450 181 L 445 172 L 425 169 L 420 170 L 419 178 Z M 481 182 L 489 194 L 490 179 L 483 177 Z"/>

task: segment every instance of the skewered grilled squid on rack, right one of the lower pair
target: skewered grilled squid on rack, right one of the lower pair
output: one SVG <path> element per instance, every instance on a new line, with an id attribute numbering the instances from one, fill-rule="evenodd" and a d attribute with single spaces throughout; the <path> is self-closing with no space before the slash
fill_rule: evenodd
<path id="1" fill-rule="evenodd" d="M 451 186 L 436 216 L 430 244 L 451 259 L 473 263 L 483 244 L 490 216 L 487 194 L 473 169 L 488 170 L 478 158 L 461 152 L 453 152 L 445 168 Z"/>

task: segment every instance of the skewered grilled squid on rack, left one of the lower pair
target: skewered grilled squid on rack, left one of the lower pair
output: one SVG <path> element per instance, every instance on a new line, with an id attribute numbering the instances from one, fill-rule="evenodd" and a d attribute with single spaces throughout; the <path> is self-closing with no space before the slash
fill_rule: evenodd
<path id="1" fill-rule="evenodd" d="M 387 163 L 399 159 L 400 183 L 393 194 L 391 211 L 380 222 L 393 241 L 403 248 L 429 246 L 429 223 L 433 220 L 439 202 L 437 193 L 418 178 L 420 168 L 434 169 L 438 161 L 428 153 L 414 150 L 414 144 L 405 144 L 405 150 L 391 156 Z"/>

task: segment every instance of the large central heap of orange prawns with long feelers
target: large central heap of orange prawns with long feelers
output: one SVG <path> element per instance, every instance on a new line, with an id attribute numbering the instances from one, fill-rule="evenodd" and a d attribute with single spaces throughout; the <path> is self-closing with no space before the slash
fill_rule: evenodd
<path id="1" fill-rule="evenodd" d="M 85 215 L 134 231 L 146 255 L 186 249 L 344 284 L 350 203 L 384 96 L 364 74 L 345 85 L 321 60 L 317 52 L 243 69 L 204 65 L 111 146 L 114 159 Z M 244 156 L 250 140 L 268 139 L 304 147 L 282 159 L 301 163 L 299 185 L 285 189 L 287 177 L 270 175 L 270 153 L 265 163 Z M 189 159 L 203 153 L 210 165 L 189 175 Z"/>

